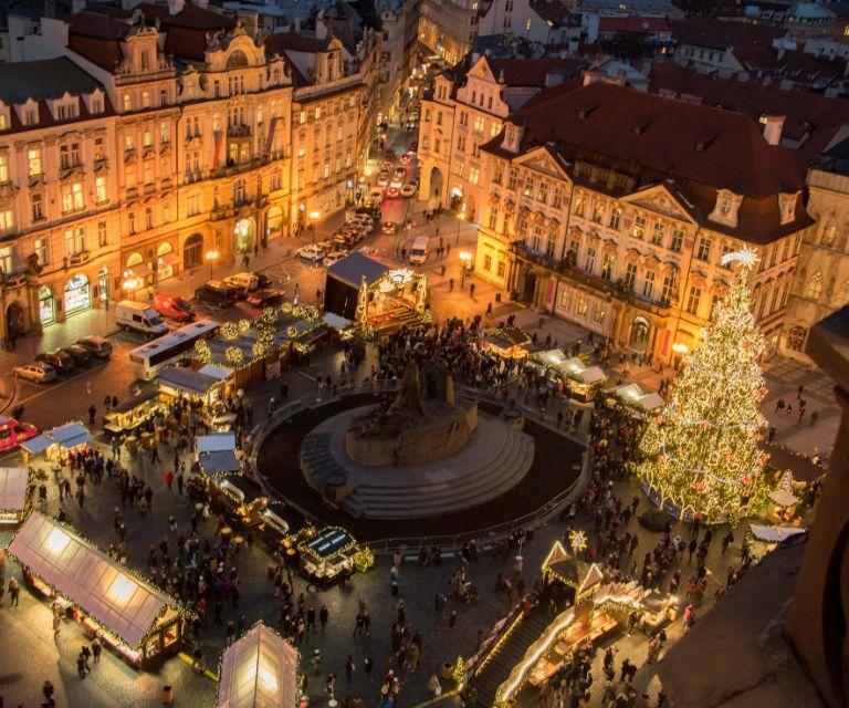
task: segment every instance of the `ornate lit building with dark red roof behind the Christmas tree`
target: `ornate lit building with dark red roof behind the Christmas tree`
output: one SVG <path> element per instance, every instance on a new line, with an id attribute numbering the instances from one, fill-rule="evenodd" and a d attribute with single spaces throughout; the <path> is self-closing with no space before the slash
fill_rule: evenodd
<path id="1" fill-rule="evenodd" d="M 801 236 L 804 164 L 748 116 L 597 82 L 533 98 L 481 147 L 475 271 L 514 299 L 675 362 L 744 248 L 775 351 Z"/>

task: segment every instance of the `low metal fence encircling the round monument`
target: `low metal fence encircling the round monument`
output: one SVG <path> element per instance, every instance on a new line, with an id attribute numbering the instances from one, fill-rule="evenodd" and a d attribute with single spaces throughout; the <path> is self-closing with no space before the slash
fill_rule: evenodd
<path id="1" fill-rule="evenodd" d="M 363 384 L 358 386 L 344 386 L 337 387 L 335 391 L 327 392 L 325 394 L 316 393 L 314 396 L 304 396 L 285 406 L 282 406 L 274 413 L 269 415 L 265 423 L 259 424 L 251 430 L 250 438 L 245 445 L 245 449 L 249 450 L 248 460 L 253 468 L 254 475 L 262 479 L 256 470 L 256 456 L 259 455 L 262 444 L 265 438 L 284 420 L 292 417 L 296 413 L 306 410 L 307 408 L 314 408 L 316 406 L 326 405 L 333 400 L 340 399 L 343 396 L 366 394 L 366 393 L 389 393 L 397 391 L 400 387 L 400 382 L 397 379 L 379 379 L 375 383 Z M 504 400 L 497 400 L 491 392 L 473 388 L 471 386 L 458 385 L 458 394 L 473 398 L 479 403 L 490 403 L 493 405 L 504 405 Z M 530 408 L 527 406 L 518 406 L 525 417 L 534 420 L 538 425 L 544 425 L 552 429 L 557 429 L 552 420 L 548 420 L 541 412 Z M 563 434 L 563 430 L 558 430 Z M 446 535 L 426 535 L 426 537 L 402 537 L 392 539 L 380 539 L 378 541 L 369 541 L 365 543 L 375 554 L 386 555 L 394 553 L 417 553 L 421 549 L 439 548 L 442 551 L 454 551 L 461 549 L 467 543 L 474 541 L 481 550 L 486 550 L 499 541 L 510 538 L 510 535 L 517 529 L 527 529 L 528 527 L 536 527 L 545 523 L 556 513 L 562 511 L 565 507 L 577 501 L 577 499 L 584 492 L 587 480 L 589 479 L 591 465 L 591 450 L 588 448 L 585 450 L 581 469 L 578 478 L 569 485 L 567 489 L 564 489 L 556 497 L 553 497 L 545 504 L 526 513 L 516 519 L 504 521 L 502 523 L 485 527 L 483 529 L 475 529 L 464 533 L 446 534 Z M 263 479 L 264 481 L 264 479 Z M 294 510 L 303 514 L 305 519 L 316 525 L 324 525 L 326 522 L 306 509 L 303 509 L 300 504 L 293 503 L 290 500 L 285 500 Z M 329 502 L 325 502 L 329 503 Z"/>

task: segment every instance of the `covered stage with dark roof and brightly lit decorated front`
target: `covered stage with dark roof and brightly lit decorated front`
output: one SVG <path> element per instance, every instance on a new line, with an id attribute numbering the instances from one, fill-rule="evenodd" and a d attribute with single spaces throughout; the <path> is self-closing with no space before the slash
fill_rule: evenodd
<path id="1" fill-rule="evenodd" d="M 428 321 L 427 278 L 355 251 L 327 268 L 324 310 L 375 332 Z"/>

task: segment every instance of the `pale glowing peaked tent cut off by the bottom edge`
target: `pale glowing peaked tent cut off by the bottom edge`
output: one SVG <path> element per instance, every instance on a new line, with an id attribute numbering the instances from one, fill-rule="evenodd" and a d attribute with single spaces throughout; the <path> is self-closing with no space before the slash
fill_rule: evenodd
<path id="1" fill-rule="evenodd" d="M 259 622 L 221 656 L 217 708 L 295 708 L 297 649 Z"/>

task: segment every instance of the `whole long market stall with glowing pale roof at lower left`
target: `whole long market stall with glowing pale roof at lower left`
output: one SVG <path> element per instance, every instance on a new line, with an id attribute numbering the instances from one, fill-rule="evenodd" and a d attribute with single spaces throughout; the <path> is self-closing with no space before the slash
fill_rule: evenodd
<path id="1" fill-rule="evenodd" d="M 188 613 L 176 600 L 56 519 L 32 512 L 9 544 L 27 583 L 64 607 L 130 666 L 179 652 Z"/>

